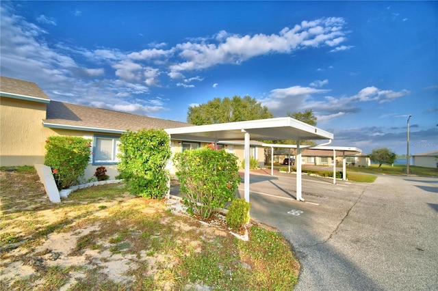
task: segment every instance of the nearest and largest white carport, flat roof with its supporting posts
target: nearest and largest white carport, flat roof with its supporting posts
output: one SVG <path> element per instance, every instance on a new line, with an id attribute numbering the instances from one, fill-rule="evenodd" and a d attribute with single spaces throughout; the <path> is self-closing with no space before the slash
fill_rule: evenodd
<path id="1" fill-rule="evenodd" d="M 296 140 L 298 142 L 297 156 L 301 153 L 300 141 L 328 140 L 318 146 L 331 143 L 333 133 L 300 122 L 291 117 L 270 118 L 266 120 L 250 120 L 244 122 L 230 122 L 224 124 L 208 124 L 201 126 L 188 126 L 180 128 L 168 128 L 166 132 L 170 139 L 183 141 L 201 141 L 218 143 L 218 141 L 244 140 L 244 197 L 249 202 L 250 193 L 250 138 L 255 140 Z M 296 199 L 304 201 L 301 193 L 301 159 L 296 162 Z"/>

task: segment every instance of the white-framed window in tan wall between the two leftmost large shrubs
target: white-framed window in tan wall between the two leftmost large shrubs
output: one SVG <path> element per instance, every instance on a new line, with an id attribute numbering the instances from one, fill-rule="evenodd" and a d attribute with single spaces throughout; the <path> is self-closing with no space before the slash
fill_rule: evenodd
<path id="1" fill-rule="evenodd" d="M 118 137 L 94 136 L 94 165 L 118 163 Z"/>

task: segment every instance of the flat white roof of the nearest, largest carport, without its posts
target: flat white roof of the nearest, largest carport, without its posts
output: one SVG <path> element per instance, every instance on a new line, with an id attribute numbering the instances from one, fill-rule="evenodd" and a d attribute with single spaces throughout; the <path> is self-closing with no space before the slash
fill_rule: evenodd
<path id="1" fill-rule="evenodd" d="M 249 133 L 253 140 L 333 139 L 333 133 L 291 117 L 168 128 L 166 132 L 172 139 L 187 141 L 242 140 L 245 132 Z"/>

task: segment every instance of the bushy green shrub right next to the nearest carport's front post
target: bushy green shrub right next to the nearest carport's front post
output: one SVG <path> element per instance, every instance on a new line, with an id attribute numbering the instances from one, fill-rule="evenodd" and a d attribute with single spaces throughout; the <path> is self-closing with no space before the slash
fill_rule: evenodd
<path id="1" fill-rule="evenodd" d="M 237 156 L 224 150 L 202 148 L 175 154 L 183 203 L 190 214 L 209 219 L 235 198 L 240 184 Z"/>

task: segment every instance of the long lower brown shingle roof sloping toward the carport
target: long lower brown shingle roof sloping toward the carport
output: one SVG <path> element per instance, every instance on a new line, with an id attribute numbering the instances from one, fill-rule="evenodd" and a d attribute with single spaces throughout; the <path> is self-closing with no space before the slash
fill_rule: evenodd
<path id="1" fill-rule="evenodd" d="M 185 122 L 163 120 L 131 113 L 74 105 L 51 101 L 47 105 L 47 119 L 44 124 L 51 127 L 75 126 L 81 128 L 103 128 L 107 130 L 165 129 L 193 126 Z"/>

